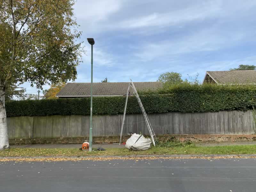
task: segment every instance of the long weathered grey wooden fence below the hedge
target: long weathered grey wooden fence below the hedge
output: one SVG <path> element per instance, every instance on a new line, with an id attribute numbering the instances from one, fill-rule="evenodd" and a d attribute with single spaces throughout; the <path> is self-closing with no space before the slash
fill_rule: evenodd
<path id="1" fill-rule="evenodd" d="M 94 115 L 94 136 L 120 134 L 123 115 Z M 251 111 L 148 114 L 156 134 L 254 134 Z M 90 116 L 20 116 L 7 118 L 9 138 L 88 136 Z M 126 115 L 124 131 L 148 134 L 142 114 Z"/>

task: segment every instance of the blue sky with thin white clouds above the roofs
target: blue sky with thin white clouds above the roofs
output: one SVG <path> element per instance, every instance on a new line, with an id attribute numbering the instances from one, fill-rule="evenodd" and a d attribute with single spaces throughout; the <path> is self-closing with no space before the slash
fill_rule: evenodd
<path id="1" fill-rule="evenodd" d="M 206 71 L 255 65 L 255 10 L 254 0 L 78 0 L 77 41 L 86 53 L 75 82 L 91 81 L 87 37 L 95 40 L 93 82 L 156 81 L 172 71 L 183 79 L 198 73 L 202 82 Z"/>

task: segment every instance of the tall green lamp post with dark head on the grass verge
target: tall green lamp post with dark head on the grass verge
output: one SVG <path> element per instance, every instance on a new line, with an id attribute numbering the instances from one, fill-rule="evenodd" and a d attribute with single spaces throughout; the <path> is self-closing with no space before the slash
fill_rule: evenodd
<path id="1" fill-rule="evenodd" d="M 95 43 L 94 39 L 87 38 L 87 41 L 89 44 L 92 45 L 92 53 L 93 53 L 93 45 Z M 93 65 L 93 59 L 91 56 L 91 116 L 90 116 L 89 151 L 92 151 L 92 65 Z"/>

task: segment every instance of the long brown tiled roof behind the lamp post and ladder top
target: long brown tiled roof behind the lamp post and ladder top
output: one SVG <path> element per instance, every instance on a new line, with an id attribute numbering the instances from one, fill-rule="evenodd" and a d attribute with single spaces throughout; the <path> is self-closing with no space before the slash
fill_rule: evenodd
<path id="1" fill-rule="evenodd" d="M 126 95 L 130 82 L 93 83 L 93 96 Z M 156 90 L 163 86 L 162 82 L 133 82 L 137 91 Z M 132 93 L 131 93 L 132 94 Z M 91 83 L 67 83 L 57 97 L 88 97 L 91 95 Z"/>

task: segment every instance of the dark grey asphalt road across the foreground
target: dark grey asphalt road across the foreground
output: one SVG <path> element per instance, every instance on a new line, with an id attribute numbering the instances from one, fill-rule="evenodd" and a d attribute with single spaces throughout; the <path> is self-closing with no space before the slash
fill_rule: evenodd
<path id="1" fill-rule="evenodd" d="M 3 192 L 255 192 L 256 159 L 0 162 Z"/>

